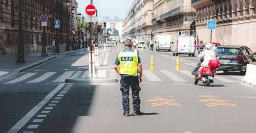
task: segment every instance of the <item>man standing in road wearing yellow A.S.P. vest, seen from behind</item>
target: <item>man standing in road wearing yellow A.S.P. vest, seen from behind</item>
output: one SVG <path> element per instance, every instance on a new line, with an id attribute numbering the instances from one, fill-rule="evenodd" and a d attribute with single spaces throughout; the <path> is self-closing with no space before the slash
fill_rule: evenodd
<path id="1" fill-rule="evenodd" d="M 121 50 L 115 61 L 115 69 L 120 74 L 120 90 L 122 92 L 123 116 L 128 116 L 130 112 L 129 89 L 131 86 L 133 97 L 133 115 L 143 115 L 140 111 L 141 90 L 139 83 L 142 82 L 142 65 L 140 62 L 139 52 L 133 49 L 131 39 L 124 42 L 125 49 Z M 139 75 L 138 75 L 139 72 Z"/>

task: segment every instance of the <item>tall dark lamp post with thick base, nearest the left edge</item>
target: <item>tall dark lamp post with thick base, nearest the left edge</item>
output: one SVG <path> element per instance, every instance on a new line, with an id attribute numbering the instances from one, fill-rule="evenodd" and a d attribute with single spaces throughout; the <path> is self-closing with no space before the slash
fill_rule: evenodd
<path id="1" fill-rule="evenodd" d="M 22 28 L 22 1 L 19 0 L 19 41 L 18 41 L 18 55 L 16 63 L 26 63 L 24 57 L 24 41 L 23 41 L 23 28 Z"/>

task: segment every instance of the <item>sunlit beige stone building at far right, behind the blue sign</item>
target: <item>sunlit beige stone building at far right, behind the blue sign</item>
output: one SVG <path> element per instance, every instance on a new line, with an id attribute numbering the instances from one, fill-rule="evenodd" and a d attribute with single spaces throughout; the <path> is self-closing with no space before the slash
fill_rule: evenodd
<path id="1" fill-rule="evenodd" d="M 197 36 L 209 41 L 207 20 L 216 20 L 217 29 L 212 31 L 212 41 L 224 45 L 246 45 L 256 50 L 256 9 L 253 0 L 192 0 L 197 11 Z"/>

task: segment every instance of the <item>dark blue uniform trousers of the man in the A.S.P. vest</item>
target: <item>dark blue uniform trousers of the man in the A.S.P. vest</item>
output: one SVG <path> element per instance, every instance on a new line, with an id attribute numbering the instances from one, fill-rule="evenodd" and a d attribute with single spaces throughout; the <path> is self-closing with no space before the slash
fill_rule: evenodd
<path id="1" fill-rule="evenodd" d="M 122 97 L 123 97 L 123 111 L 129 111 L 130 110 L 130 104 L 129 104 L 129 88 L 131 86 L 132 92 L 133 92 L 133 109 L 134 111 L 140 110 L 140 96 L 139 92 L 141 90 L 139 86 L 139 80 L 138 77 L 133 76 L 122 76 L 120 80 L 120 90 L 122 91 Z"/>

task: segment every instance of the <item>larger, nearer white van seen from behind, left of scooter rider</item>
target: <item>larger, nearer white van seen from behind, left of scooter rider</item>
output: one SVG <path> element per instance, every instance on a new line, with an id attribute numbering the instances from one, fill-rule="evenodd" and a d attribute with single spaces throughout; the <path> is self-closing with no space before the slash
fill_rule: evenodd
<path id="1" fill-rule="evenodd" d="M 178 56 L 179 54 L 187 54 L 195 57 L 195 38 L 191 36 L 175 37 L 172 50 L 174 56 Z"/>

